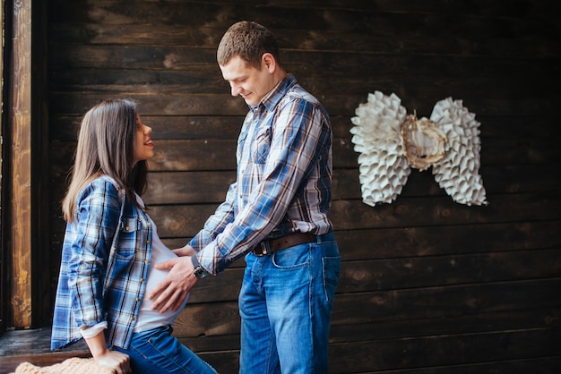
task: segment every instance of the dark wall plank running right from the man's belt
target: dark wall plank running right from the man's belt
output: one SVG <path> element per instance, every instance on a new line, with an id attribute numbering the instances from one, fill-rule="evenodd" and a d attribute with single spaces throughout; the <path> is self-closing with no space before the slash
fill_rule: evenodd
<path id="1" fill-rule="evenodd" d="M 336 231 L 344 260 L 561 248 L 561 220 Z"/>

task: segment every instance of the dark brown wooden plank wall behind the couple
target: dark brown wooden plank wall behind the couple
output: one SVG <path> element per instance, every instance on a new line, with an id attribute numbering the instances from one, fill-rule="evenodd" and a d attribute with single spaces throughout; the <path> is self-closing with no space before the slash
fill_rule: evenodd
<path id="1" fill-rule="evenodd" d="M 553 373 L 561 368 L 561 11 L 545 0 L 49 0 L 51 289 L 81 115 L 136 98 L 153 127 L 151 217 L 184 245 L 224 199 L 246 106 L 215 62 L 223 32 L 259 21 L 289 72 L 332 115 L 332 221 L 343 259 L 332 373 Z M 557 75 L 556 75 L 557 74 Z M 487 207 L 430 172 L 361 201 L 350 117 L 368 92 L 428 116 L 459 98 L 481 123 Z M 176 335 L 237 372 L 237 262 L 200 282 Z M 53 294 L 49 295 L 50 297 Z M 45 311 L 47 314 L 50 310 Z"/>

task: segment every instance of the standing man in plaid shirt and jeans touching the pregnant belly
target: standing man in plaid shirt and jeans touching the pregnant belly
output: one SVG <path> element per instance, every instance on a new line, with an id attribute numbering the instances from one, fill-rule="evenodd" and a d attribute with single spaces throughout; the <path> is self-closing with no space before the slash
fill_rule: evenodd
<path id="1" fill-rule="evenodd" d="M 239 293 L 240 373 L 327 373 L 341 258 L 327 217 L 332 129 L 324 107 L 280 64 L 269 30 L 237 22 L 218 64 L 249 112 L 237 141 L 237 181 L 186 257 L 151 290 L 153 309 L 177 309 L 196 282 L 246 255 Z"/>

